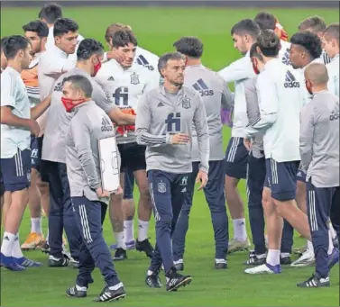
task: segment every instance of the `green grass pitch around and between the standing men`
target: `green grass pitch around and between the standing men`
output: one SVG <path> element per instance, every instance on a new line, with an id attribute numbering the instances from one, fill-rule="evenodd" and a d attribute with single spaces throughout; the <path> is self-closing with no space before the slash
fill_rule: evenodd
<path id="1" fill-rule="evenodd" d="M 209 8 L 118 8 L 91 7 L 65 8 L 65 15 L 79 23 L 80 33 L 85 38 L 95 38 L 105 43 L 104 34 L 109 23 L 126 23 L 133 27 L 139 44 L 161 55 L 172 50 L 172 42 L 183 35 L 198 36 L 205 44 L 204 64 L 212 69 L 224 68 L 240 57 L 234 50 L 230 29 L 242 18 L 253 18 L 259 11 L 254 9 L 209 9 Z M 297 31 L 301 20 L 310 15 L 320 15 L 326 23 L 339 22 L 335 9 L 273 9 L 289 35 Z M 5 8 L 1 11 L 1 36 L 22 34 L 22 25 L 37 17 L 39 8 Z M 225 146 L 230 131 L 225 129 Z M 246 203 L 244 182 L 240 185 Z M 136 194 L 136 199 L 138 195 Z M 232 224 L 232 223 L 230 223 Z M 46 227 L 46 221 L 43 221 Z M 153 221 L 150 227 L 154 242 Z M 232 227 L 231 237 L 233 234 Z M 30 230 L 28 211 L 21 227 L 21 240 Z M 247 224 L 250 235 L 250 227 Z M 46 234 L 46 228 L 45 228 Z M 114 237 L 106 220 L 105 237 L 112 243 Z M 296 236 L 295 245 L 304 241 Z M 49 268 L 46 256 L 39 251 L 25 254 L 45 265 L 22 273 L 1 270 L 1 302 L 4 306 L 81 306 L 95 305 L 92 299 L 102 290 L 103 280 L 96 270 L 95 284 L 88 290 L 87 299 L 66 297 L 66 288 L 73 284 L 77 271 L 73 268 Z M 142 254 L 131 251 L 129 259 L 116 264 L 116 269 L 125 284 L 127 296 L 116 305 L 126 306 L 339 306 L 339 266 L 331 274 L 332 287 L 328 289 L 298 289 L 296 283 L 309 277 L 312 267 L 283 267 L 280 275 L 245 275 L 242 262 L 247 253 L 229 256 L 229 269 L 214 269 L 214 239 L 210 214 L 204 195 L 195 195 L 190 215 L 188 245 L 185 257 L 186 273 L 193 275 L 193 282 L 178 293 L 165 289 L 153 290 L 144 284 L 149 260 Z M 161 275 L 162 281 L 164 276 Z M 114 303 L 113 303 L 114 304 Z"/>

